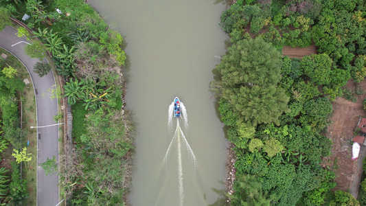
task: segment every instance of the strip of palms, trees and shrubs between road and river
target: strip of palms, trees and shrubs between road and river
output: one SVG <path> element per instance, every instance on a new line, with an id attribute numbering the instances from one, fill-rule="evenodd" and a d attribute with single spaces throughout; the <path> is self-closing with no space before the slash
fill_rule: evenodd
<path id="1" fill-rule="evenodd" d="M 73 205 L 123 204 L 133 141 L 122 110 L 122 36 L 82 0 L 0 0 L 0 5 L 6 8 L 4 15 L 19 20 L 24 13 L 31 16 L 24 23 L 40 41 L 20 29 L 18 35 L 33 42 L 25 47 L 26 54 L 42 59 L 48 52 L 66 80 L 75 144 L 60 161 L 62 193 Z M 40 76 L 49 71 L 47 65 L 35 69 Z M 52 172 L 56 165 L 49 161 L 43 166 Z"/>

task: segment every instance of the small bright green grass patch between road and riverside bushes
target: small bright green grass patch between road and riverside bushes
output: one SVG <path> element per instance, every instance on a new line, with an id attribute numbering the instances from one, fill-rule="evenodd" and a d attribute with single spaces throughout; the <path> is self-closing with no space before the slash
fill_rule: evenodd
<path id="1" fill-rule="evenodd" d="M 87 128 L 85 127 L 85 115 L 87 115 L 88 111 L 85 110 L 85 106 L 82 106 L 82 103 L 78 102 L 73 104 L 72 106 L 72 136 L 76 142 L 80 143 L 80 137 L 83 134 L 87 133 Z"/>

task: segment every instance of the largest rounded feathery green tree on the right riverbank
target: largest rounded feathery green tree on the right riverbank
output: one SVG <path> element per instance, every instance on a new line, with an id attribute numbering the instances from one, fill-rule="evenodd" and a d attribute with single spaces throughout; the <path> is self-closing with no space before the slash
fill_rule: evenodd
<path id="1" fill-rule="evenodd" d="M 229 47 L 216 66 L 222 78 L 220 85 L 224 98 L 238 115 L 238 120 L 260 123 L 275 122 L 288 112 L 288 96 L 284 89 L 277 87 L 281 80 L 281 55 L 265 43 L 262 38 L 238 41 Z"/>

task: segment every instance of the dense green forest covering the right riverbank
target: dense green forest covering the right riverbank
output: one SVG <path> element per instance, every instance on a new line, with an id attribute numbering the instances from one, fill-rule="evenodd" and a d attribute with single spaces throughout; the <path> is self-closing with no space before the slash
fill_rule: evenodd
<path id="1" fill-rule="evenodd" d="M 222 12 L 230 47 L 211 82 L 235 146 L 233 205 L 344 205 L 334 171 L 322 168 L 331 102 L 365 68 L 365 2 L 239 0 Z M 319 54 L 281 57 L 284 45 Z"/>

